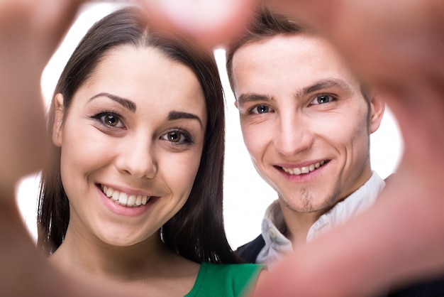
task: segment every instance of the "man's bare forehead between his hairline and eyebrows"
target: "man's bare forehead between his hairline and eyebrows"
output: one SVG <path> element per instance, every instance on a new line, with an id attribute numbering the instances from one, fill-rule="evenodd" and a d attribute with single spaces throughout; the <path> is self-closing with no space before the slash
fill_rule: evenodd
<path id="1" fill-rule="evenodd" d="M 307 33 L 279 35 L 243 45 L 233 55 L 233 78 L 238 80 L 292 79 L 317 81 L 356 79 L 337 50 L 324 38 Z"/>

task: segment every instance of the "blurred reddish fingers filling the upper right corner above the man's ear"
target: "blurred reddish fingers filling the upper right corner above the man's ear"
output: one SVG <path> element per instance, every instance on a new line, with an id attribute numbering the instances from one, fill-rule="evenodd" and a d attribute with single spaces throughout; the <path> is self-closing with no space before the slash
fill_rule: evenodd
<path id="1" fill-rule="evenodd" d="M 444 80 L 443 0 L 269 0 L 323 33 L 372 82 Z"/>

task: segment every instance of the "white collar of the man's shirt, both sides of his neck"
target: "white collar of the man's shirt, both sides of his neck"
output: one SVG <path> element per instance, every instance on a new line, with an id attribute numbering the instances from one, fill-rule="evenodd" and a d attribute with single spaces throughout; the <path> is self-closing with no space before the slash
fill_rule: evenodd
<path id="1" fill-rule="evenodd" d="M 309 229 L 306 242 L 310 242 L 319 235 L 330 231 L 355 215 L 367 210 L 376 201 L 384 186 L 384 180 L 373 171 L 372 176 L 364 185 L 355 190 L 348 198 L 338 202 L 331 210 L 321 215 L 314 222 Z M 267 207 L 265 217 L 262 219 L 262 237 L 265 240 L 265 247 L 257 255 L 257 263 L 272 266 L 283 254 L 292 251 L 292 242 L 279 232 L 277 226 L 285 226 L 285 222 L 279 200 L 274 200 Z"/>

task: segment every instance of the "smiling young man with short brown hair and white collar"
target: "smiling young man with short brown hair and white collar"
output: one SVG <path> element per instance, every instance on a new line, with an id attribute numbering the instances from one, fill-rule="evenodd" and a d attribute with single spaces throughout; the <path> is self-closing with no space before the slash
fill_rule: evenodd
<path id="1" fill-rule="evenodd" d="M 270 265 L 376 200 L 385 183 L 370 166 L 370 134 L 384 101 L 325 38 L 261 13 L 228 48 L 227 69 L 245 145 L 278 197 L 238 253 Z"/>

